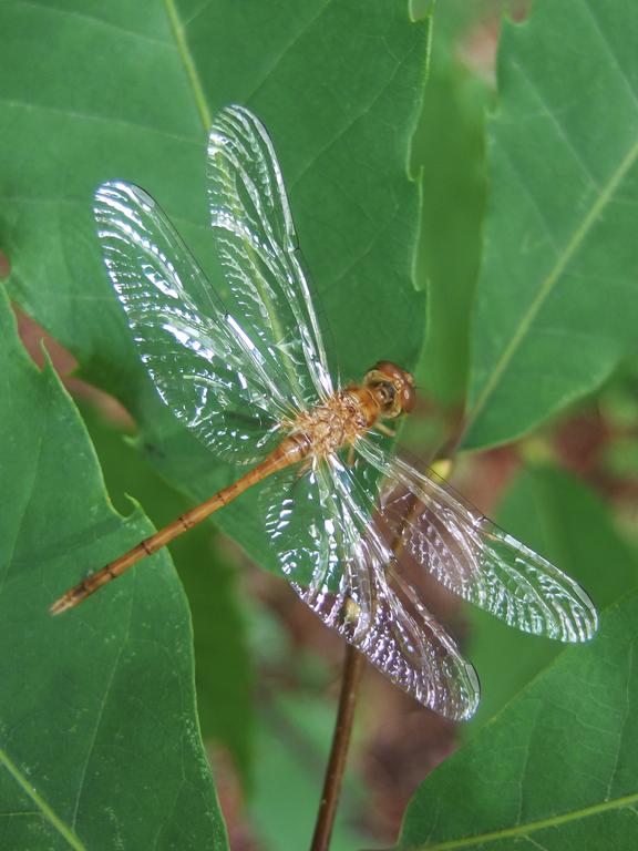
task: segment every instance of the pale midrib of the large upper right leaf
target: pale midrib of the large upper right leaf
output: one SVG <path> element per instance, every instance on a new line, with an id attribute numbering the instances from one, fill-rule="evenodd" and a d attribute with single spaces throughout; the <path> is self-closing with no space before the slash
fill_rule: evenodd
<path id="1" fill-rule="evenodd" d="M 527 332 L 529 331 L 532 324 L 536 319 L 536 316 L 538 315 L 541 308 L 543 307 L 545 300 L 556 286 L 558 279 L 565 271 L 565 268 L 583 244 L 585 237 L 587 236 L 588 232 L 594 226 L 595 222 L 598 219 L 598 216 L 600 215 L 601 211 L 605 208 L 605 206 L 610 202 L 614 193 L 616 192 L 618 185 L 629 171 L 636 160 L 638 158 L 638 142 L 635 142 L 634 145 L 629 148 L 625 157 L 621 160 L 618 168 L 611 174 L 610 178 L 607 181 L 606 185 L 597 196 L 596 201 L 589 208 L 589 212 L 584 217 L 580 226 L 576 228 L 574 232 L 574 235 L 565 246 L 565 249 L 562 252 L 562 254 L 557 257 L 556 263 L 549 270 L 547 277 L 542 283 L 538 293 L 532 304 L 529 305 L 527 311 L 523 315 L 523 318 L 521 319 L 521 322 L 518 324 L 517 328 L 515 329 L 514 334 L 510 338 L 510 342 L 503 350 L 503 353 L 496 361 L 496 366 L 494 367 L 494 371 L 492 372 L 488 381 L 483 387 L 483 390 L 478 393 L 476 401 L 474 402 L 474 407 L 471 409 L 470 413 L 466 418 L 465 423 L 465 430 L 464 433 L 466 434 L 470 431 L 470 428 L 475 422 L 476 418 L 485 407 L 487 400 L 494 392 L 498 381 L 501 380 L 501 377 L 503 376 L 503 372 L 512 361 L 517 348 L 521 346 L 523 339 L 526 337 Z"/>

